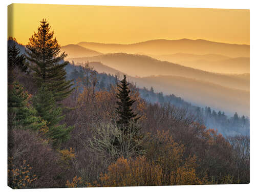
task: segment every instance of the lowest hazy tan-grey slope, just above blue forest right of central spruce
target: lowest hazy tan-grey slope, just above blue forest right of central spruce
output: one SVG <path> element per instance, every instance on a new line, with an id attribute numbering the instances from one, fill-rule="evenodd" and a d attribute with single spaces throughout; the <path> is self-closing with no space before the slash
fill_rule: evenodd
<path id="1" fill-rule="evenodd" d="M 230 89 L 218 84 L 178 76 L 131 78 L 139 87 L 150 88 L 164 94 L 175 94 L 186 101 L 215 110 L 238 112 L 249 116 L 250 92 Z"/>

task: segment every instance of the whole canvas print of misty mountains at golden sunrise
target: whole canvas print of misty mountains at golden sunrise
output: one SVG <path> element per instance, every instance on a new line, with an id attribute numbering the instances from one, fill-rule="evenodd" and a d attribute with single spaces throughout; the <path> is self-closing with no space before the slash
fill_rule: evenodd
<path id="1" fill-rule="evenodd" d="M 9 5 L 8 185 L 249 183 L 249 20 Z"/>

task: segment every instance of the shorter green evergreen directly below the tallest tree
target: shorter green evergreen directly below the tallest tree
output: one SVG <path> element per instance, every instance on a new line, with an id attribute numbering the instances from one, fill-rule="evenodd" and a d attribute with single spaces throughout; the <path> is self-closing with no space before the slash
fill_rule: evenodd
<path id="1" fill-rule="evenodd" d="M 53 93 L 44 84 L 34 96 L 33 106 L 37 111 L 37 116 L 47 121 L 49 131 L 46 136 L 53 141 L 55 147 L 69 139 L 73 127 L 59 124 L 65 118 L 65 115 L 62 115 L 62 109 L 56 105 Z"/>

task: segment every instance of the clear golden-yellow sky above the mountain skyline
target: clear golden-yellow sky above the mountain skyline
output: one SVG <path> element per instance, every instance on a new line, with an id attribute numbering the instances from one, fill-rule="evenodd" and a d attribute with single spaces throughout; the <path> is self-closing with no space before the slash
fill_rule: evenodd
<path id="1" fill-rule="evenodd" d="M 8 36 L 26 45 L 42 18 L 61 46 L 181 38 L 250 44 L 250 12 L 238 9 L 12 4 Z"/>

